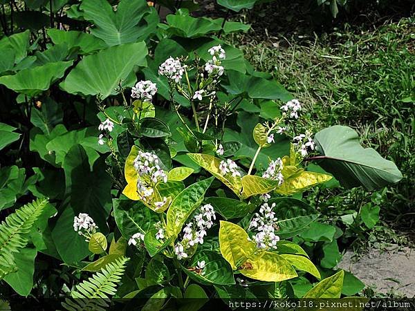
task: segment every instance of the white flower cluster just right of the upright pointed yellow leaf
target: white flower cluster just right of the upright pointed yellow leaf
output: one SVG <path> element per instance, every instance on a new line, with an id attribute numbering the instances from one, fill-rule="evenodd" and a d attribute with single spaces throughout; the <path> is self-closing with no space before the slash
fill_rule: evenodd
<path id="1" fill-rule="evenodd" d="M 257 247 L 260 249 L 277 248 L 277 242 L 279 236 L 275 234 L 277 227 L 277 218 L 273 208 L 275 203 L 271 206 L 268 203 L 264 203 L 259 208 L 259 214 L 255 213 L 255 218 L 252 218 L 249 229 L 255 229 L 257 232 L 252 236 L 252 240 L 257 243 Z"/>

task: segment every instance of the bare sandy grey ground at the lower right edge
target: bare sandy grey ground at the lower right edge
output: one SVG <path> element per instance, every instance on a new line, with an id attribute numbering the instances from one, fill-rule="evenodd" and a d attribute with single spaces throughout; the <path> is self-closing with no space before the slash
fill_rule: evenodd
<path id="1" fill-rule="evenodd" d="M 414 251 L 414 252 L 412 252 Z M 344 254 L 339 267 L 350 271 L 376 292 L 415 297 L 415 249 L 393 245 L 387 251 L 371 249 L 357 262 L 353 252 Z"/>

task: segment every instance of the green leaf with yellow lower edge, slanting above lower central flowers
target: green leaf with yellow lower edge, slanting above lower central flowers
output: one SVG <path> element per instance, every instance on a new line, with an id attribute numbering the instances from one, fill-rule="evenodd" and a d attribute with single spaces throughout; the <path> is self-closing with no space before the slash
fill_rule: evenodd
<path id="1" fill-rule="evenodd" d="M 195 182 L 181 191 L 167 211 L 167 236 L 177 236 L 190 214 L 201 205 L 213 177 Z"/>

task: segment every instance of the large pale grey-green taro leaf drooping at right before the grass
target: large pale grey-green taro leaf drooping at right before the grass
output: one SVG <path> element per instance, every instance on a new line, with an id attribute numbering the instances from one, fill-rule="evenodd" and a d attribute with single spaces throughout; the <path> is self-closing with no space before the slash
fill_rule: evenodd
<path id="1" fill-rule="evenodd" d="M 368 191 L 402 179 L 394 162 L 359 144 L 358 133 L 348 126 L 335 125 L 315 134 L 319 165 L 347 188 L 363 186 Z"/>

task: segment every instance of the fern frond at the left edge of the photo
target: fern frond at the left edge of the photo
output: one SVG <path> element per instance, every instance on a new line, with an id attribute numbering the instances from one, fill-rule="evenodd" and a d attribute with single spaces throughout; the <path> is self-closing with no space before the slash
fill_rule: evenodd
<path id="1" fill-rule="evenodd" d="M 47 198 L 37 199 L 17 209 L 0 225 L 0 279 L 12 272 L 15 266 L 13 253 L 26 246 L 33 223 L 48 204 Z"/>

